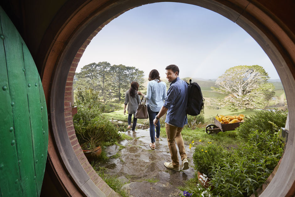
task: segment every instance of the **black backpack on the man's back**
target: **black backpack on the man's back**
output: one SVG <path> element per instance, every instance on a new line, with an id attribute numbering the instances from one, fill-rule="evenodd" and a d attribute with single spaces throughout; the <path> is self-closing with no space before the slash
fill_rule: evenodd
<path id="1" fill-rule="evenodd" d="M 187 83 L 187 82 L 186 82 Z M 190 82 L 187 83 L 188 87 L 188 96 L 187 96 L 187 106 L 186 106 L 186 113 L 188 115 L 199 115 L 201 110 L 204 113 L 204 101 L 201 87 L 197 82 Z"/>

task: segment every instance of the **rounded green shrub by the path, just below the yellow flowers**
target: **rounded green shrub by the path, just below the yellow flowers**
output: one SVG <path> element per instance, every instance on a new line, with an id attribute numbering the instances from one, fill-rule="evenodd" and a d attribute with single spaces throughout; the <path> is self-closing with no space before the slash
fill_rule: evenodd
<path id="1" fill-rule="evenodd" d="M 226 155 L 226 152 L 221 146 L 217 146 L 216 144 L 200 144 L 196 146 L 193 160 L 199 172 L 210 176 L 211 166 L 214 162 L 218 163 L 224 155 Z"/>

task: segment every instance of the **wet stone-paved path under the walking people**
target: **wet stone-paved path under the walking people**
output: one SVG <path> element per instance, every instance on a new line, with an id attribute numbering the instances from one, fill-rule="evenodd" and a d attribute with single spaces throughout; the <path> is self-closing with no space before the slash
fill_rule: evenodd
<path id="1" fill-rule="evenodd" d="M 114 175 L 126 183 L 123 188 L 131 197 L 179 196 L 182 191 L 177 187 L 194 177 L 193 148 L 190 150 L 188 145 L 185 146 L 190 168 L 176 172 L 164 166 L 164 162 L 171 161 L 166 138 L 156 141 L 156 149 L 152 150 L 149 147 L 149 129 L 128 131 L 125 134 L 134 139 L 121 141 L 120 144 L 126 147 L 121 150 L 117 145 L 107 148 L 107 156 L 111 157 L 116 153 L 121 156 L 101 163 L 100 166 L 106 168 L 104 173 Z M 179 153 L 178 156 L 181 163 Z M 158 181 L 146 181 L 151 179 Z"/>

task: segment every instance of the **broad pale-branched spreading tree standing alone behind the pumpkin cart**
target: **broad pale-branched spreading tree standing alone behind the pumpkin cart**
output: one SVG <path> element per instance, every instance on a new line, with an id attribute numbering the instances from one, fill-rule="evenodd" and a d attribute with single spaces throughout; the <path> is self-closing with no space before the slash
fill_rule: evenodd
<path id="1" fill-rule="evenodd" d="M 274 85 L 268 83 L 268 74 L 259 65 L 235 66 L 225 71 L 211 87 L 225 95 L 219 99 L 221 106 L 229 110 L 265 108 L 274 96 Z"/>

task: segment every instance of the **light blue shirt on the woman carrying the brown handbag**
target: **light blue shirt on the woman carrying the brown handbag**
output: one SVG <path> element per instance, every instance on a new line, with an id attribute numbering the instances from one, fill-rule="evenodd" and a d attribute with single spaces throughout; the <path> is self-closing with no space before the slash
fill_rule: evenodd
<path id="1" fill-rule="evenodd" d="M 147 83 L 147 95 L 145 95 L 147 104 L 155 112 L 161 110 L 167 95 L 166 83 L 158 83 L 158 81 L 158 79 L 155 79 Z"/>

